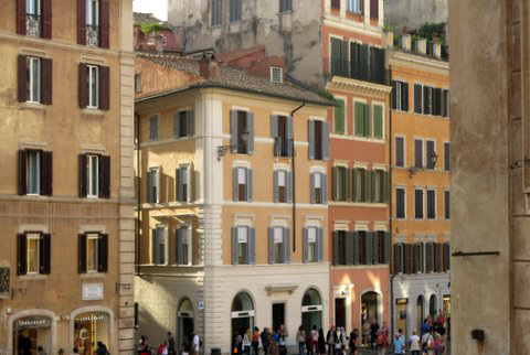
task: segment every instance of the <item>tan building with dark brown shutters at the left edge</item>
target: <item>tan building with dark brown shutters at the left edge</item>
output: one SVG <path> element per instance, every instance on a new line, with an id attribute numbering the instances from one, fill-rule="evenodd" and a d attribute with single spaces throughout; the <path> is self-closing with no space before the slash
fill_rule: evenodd
<path id="1" fill-rule="evenodd" d="M 134 348 L 132 1 L 3 1 L 0 354 Z"/>

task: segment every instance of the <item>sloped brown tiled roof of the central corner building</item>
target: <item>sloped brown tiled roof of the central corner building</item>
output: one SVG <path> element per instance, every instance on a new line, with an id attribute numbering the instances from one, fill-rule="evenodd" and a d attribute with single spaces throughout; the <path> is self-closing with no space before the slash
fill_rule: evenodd
<path id="1" fill-rule="evenodd" d="M 199 71 L 199 60 L 193 58 L 182 58 L 171 55 L 158 55 L 158 54 L 146 54 L 138 53 L 138 57 L 151 61 L 158 65 L 171 67 L 177 71 L 187 72 L 189 74 L 195 75 L 199 79 L 186 88 L 174 87 L 172 89 L 166 90 L 163 93 L 157 93 L 148 96 L 138 98 L 138 100 L 145 100 L 155 96 L 163 96 L 171 93 L 180 92 L 187 88 L 199 88 L 199 87 L 220 87 L 227 89 L 235 89 L 247 92 L 252 94 L 266 95 L 272 97 L 279 97 L 284 99 L 292 99 L 296 101 L 304 101 L 310 104 L 317 104 L 322 106 L 333 106 L 335 103 L 328 98 L 325 98 L 318 95 L 316 92 L 311 92 L 294 84 L 287 83 L 284 80 L 284 84 L 272 83 L 271 80 L 252 75 L 246 71 L 232 67 L 229 65 L 223 65 L 219 63 L 218 74 L 213 78 L 205 78 L 200 76 Z"/>

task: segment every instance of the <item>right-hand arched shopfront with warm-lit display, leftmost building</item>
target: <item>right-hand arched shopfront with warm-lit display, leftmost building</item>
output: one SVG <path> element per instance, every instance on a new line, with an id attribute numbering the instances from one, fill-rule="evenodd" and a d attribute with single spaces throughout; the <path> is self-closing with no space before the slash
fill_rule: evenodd
<path id="1" fill-rule="evenodd" d="M 81 355 L 92 355 L 97 342 L 109 349 L 109 319 L 104 312 L 82 313 L 74 319 L 74 346 Z M 110 351 L 110 349 L 109 349 Z"/>

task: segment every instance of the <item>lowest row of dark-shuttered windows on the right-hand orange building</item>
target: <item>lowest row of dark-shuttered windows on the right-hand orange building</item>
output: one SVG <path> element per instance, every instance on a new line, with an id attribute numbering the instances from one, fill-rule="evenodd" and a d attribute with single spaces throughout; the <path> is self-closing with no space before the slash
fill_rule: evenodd
<path id="1" fill-rule="evenodd" d="M 394 273 L 447 272 L 451 269 L 448 243 L 394 245 Z"/>

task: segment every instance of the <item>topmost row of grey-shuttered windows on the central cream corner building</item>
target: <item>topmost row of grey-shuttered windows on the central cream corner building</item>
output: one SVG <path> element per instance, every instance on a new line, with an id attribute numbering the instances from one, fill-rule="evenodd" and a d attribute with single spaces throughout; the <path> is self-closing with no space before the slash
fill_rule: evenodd
<path id="1" fill-rule="evenodd" d="M 149 116 L 149 140 L 159 140 L 160 117 Z M 173 115 L 173 137 L 193 136 L 193 112 L 181 110 Z M 254 114 L 243 110 L 230 112 L 230 146 L 233 153 L 254 154 Z M 271 137 L 274 139 L 275 157 L 293 157 L 294 122 L 293 117 L 271 116 Z M 321 120 L 308 121 L 309 159 L 329 159 L 329 123 Z"/>

